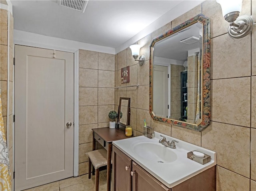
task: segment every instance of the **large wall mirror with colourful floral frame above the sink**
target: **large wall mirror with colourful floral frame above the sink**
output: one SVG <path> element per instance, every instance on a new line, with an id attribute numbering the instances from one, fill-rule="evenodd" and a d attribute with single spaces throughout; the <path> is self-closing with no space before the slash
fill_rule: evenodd
<path id="1" fill-rule="evenodd" d="M 210 124 L 210 19 L 202 14 L 150 45 L 150 114 L 201 132 Z"/>

